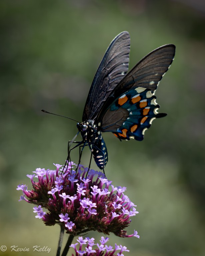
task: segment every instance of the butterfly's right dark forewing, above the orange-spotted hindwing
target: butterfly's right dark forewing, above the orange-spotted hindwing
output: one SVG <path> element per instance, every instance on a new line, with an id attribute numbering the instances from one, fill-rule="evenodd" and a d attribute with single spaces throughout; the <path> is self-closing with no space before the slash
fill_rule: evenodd
<path id="1" fill-rule="evenodd" d="M 104 114 L 114 100 L 130 89 L 143 87 L 150 89 L 154 93 L 163 75 L 170 67 L 174 59 L 174 54 L 175 45 L 167 44 L 155 49 L 140 60 L 109 95 L 98 114 L 97 120 L 102 121 Z M 110 119 L 110 124 L 112 124 L 112 119 Z"/>

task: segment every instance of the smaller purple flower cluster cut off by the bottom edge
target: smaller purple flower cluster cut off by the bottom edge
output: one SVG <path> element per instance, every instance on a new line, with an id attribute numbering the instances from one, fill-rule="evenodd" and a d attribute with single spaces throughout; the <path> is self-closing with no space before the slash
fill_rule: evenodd
<path id="1" fill-rule="evenodd" d="M 112 246 L 106 245 L 108 240 L 108 237 L 104 238 L 102 236 L 100 244 L 95 244 L 94 238 L 86 237 L 85 239 L 83 239 L 83 237 L 81 236 L 77 239 L 78 243 L 71 244 L 70 246 L 75 250 L 75 254 L 72 254 L 72 256 L 123 256 L 123 251 L 129 252 L 129 250 L 127 250 L 127 247 L 122 245 L 118 246 L 117 244 L 115 244 L 115 248 L 113 249 Z M 96 245 L 96 249 L 93 248 L 94 245 Z M 85 247 L 84 250 L 82 250 L 83 246 Z"/>

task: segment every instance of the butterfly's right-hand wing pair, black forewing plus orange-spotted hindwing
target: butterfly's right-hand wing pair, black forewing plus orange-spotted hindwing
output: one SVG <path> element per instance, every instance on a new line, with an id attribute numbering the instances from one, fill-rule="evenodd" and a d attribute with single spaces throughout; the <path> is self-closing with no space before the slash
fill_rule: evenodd
<path id="1" fill-rule="evenodd" d="M 155 90 L 171 65 L 175 46 L 164 45 L 144 57 L 115 87 L 97 117 L 103 132 L 111 131 L 119 139 L 142 140 L 157 113 Z"/>

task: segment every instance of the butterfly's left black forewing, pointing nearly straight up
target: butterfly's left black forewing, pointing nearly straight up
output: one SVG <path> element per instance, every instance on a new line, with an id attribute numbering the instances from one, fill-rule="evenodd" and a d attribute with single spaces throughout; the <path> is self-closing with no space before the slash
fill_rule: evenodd
<path id="1" fill-rule="evenodd" d="M 117 35 L 109 45 L 92 82 L 83 121 L 95 120 L 109 94 L 128 71 L 130 36 L 127 31 Z"/>

